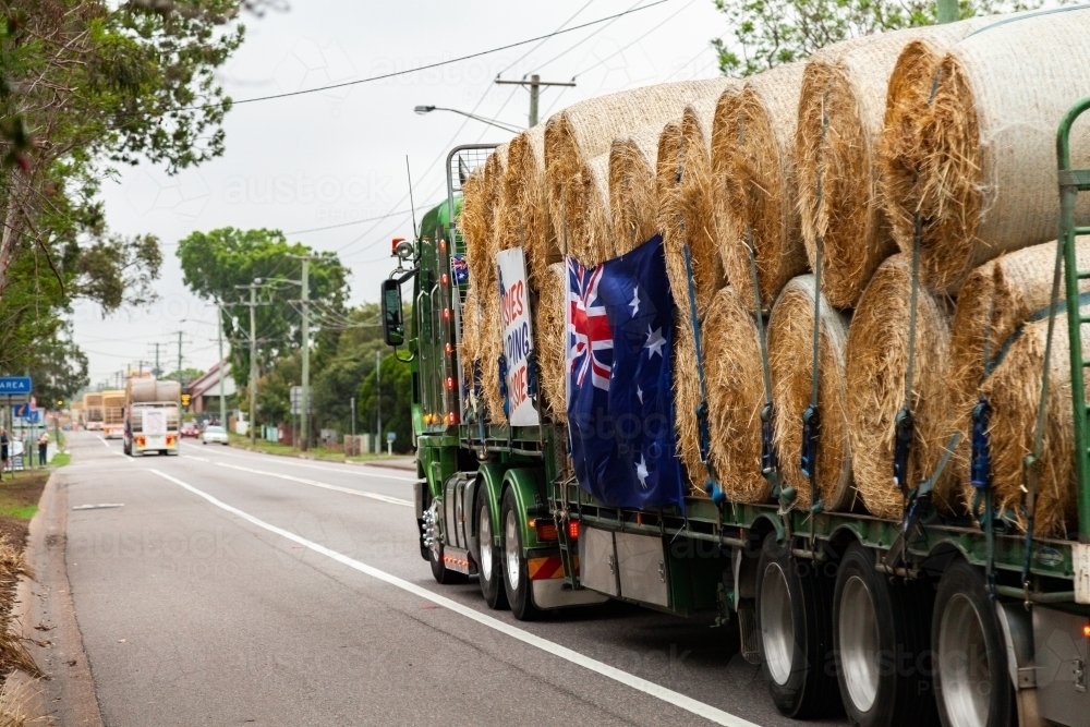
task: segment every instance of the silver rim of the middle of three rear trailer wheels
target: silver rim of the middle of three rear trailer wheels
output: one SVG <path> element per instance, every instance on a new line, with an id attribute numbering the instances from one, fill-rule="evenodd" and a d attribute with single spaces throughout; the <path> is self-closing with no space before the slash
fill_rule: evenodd
<path id="1" fill-rule="evenodd" d="M 870 589 L 858 575 L 844 584 L 838 626 L 849 699 L 857 710 L 869 712 L 879 693 L 879 621 Z"/>

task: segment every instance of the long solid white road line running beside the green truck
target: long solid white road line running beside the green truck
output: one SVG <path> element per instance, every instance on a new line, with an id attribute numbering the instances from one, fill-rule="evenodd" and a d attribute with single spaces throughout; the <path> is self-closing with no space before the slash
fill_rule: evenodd
<path id="1" fill-rule="evenodd" d="M 729 712 L 724 712 L 723 710 L 718 710 L 714 706 L 711 706 L 710 704 L 704 704 L 703 702 L 699 702 L 692 699 L 691 696 L 686 696 L 680 692 L 676 692 L 671 689 L 667 689 L 665 687 L 656 684 L 653 681 L 649 681 L 641 677 L 637 677 L 635 675 L 629 674 L 628 671 L 622 671 L 621 669 L 609 666 L 608 664 L 604 664 L 603 662 L 591 658 L 590 656 L 580 654 L 579 652 L 568 649 L 567 646 L 561 646 L 560 644 L 549 641 L 548 639 L 542 639 L 541 637 L 530 633 L 529 631 L 523 631 L 517 626 L 512 626 L 510 623 L 500 621 L 499 619 L 493 618 L 487 614 L 482 614 L 481 611 L 474 610 L 469 606 L 463 606 L 457 601 L 451 601 L 450 598 L 433 593 L 425 587 L 416 585 L 415 583 L 410 583 L 409 581 L 400 579 L 397 575 L 387 573 L 384 570 L 379 570 L 373 566 L 363 564 L 359 560 L 355 560 L 354 558 L 349 558 L 346 555 L 337 553 L 336 550 L 331 550 L 325 547 L 324 545 L 318 545 L 317 543 L 308 541 L 305 537 L 301 537 L 295 533 L 283 530 L 282 528 L 277 528 L 276 525 L 271 525 L 265 522 L 264 520 L 255 518 L 249 512 L 244 512 L 237 507 L 228 505 L 222 500 L 216 499 L 211 495 L 204 493 L 194 487 L 193 485 L 189 485 L 177 477 L 172 477 L 165 472 L 160 472 L 159 470 L 149 470 L 149 471 L 156 473 L 164 480 L 172 482 L 175 485 L 190 490 L 191 493 L 193 493 L 198 497 L 203 497 L 204 499 L 208 500 L 216 507 L 222 510 L 227 510 L 232 514 L 239 516 L 243 520 L 246 520 L 253 523 L 254 525 L 257 525 L 258 528 L 263 528 L 264 530 L 280 535 L 281 537 L 284 537 L 293 543 L 298 543 L 305 548 L 308 548 L 311 550 L 314 550 L 315 553 L 324 555 L 327 558 L 336 560 L 339 564 L 342 564 L 344 566 L 348 566 L 349 568 L 358 570 L 361 573 L 365 573 L 366 575 L 371 575 L 372 578 L 378 579 L 384 583 L 388 583 L 390 585 L 401 589 L 402 591 L 412 593 L 413 595 L 420 596 L 425 601 L 431 601 L 432 603 L 438 606 L 443 606 L 444 608 L 452 610 L 456 614 L 464 616 L 470 620 L 476 621 L 482 626 L 486 626 L 489 629 L 494 629 L 496 631 L 499 631 L 500 633 L 505 633 L 511 637 L 512 639 L 521 641 L 524 644 L 536 646 L 537 649 L 541 649 L 542 651 L 548 654 L 553 654 L 554 656 L 559 656 L 560 658 L 567 662 L 581 666 L 585 669 L 590 669 L 591 671 L 600 674 L 603 677 L 606 677 L 607 679 L 613 679 L 614 681 L 620 682 L 626 687 L 631 687 L 637 691 L 659 699 L 668 704 L 673 704 L 674 706 L 680 707 L 686 712 L 690 712 L 717 725 L 726 725 L 727 727 L 758 727 L 752 722 L 742 719 L 741 717 L 732 715 Z"/>

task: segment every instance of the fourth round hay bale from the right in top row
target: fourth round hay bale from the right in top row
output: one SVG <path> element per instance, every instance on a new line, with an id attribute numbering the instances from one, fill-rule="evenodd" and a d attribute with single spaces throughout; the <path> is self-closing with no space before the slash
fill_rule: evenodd
<path id="1" fill-rule="evenodd" d="M 665 133 L 658 146 L 658 229 L 663 231 L 666 274 L 674 300 L 689 307 L 689 274 L 685 246 L 692 260 L 697 310 L 703 312 L 726 284 L 718 240 L 712 220 L 712 122 L 717 98 L 704 98 L 686 107 L 676 137 Z"/>

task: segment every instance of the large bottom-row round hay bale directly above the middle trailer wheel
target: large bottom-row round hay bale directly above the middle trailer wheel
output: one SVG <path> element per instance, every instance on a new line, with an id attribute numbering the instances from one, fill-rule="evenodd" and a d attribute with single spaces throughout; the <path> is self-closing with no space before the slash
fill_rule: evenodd
<path id="1" fill-rule="evenodd" d="M 851 470 L 871 514 L 898 520 L 904 501 L 893 483 L 894 420 L 905 404 L 911 262 L 887 258 L 867 286 L 848 328 L 847 403 Z M 949 438 L 949 323 L 940 300 L 919 287 L 912 415 L 916 437 L 908 485 L 930 476 Z M 935 484 L 933 501 L 952 512 L 960 500 L 950 469 Z"/>

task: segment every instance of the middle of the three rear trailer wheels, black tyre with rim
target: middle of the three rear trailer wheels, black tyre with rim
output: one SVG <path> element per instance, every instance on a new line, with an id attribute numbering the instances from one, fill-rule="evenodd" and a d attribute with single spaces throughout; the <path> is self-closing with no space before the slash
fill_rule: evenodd
<path id="1" fill-rule="evenodd" d="M 836 677 L 858 727 L 938 724 L 931 684 L 929 582 L 881 573 L 853 543 L 840 559 L 833 606 Z"/>

